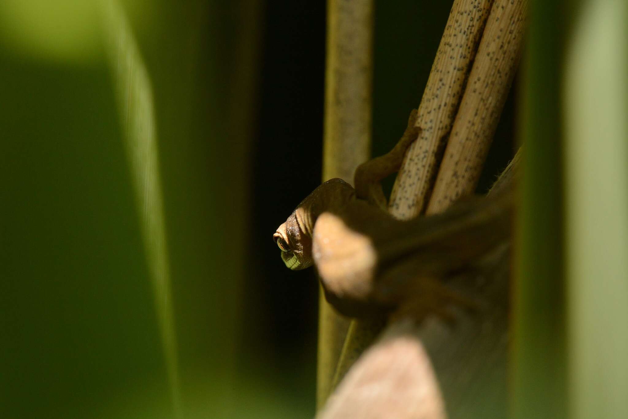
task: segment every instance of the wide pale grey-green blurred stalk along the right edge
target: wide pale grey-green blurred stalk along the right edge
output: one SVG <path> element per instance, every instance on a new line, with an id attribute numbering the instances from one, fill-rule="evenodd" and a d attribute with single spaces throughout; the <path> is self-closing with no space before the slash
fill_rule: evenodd
<path id="1" fill-rule="evenodd" d="M 582 2 L 566 50 L 570 417 L 628 404 L 628 4 Z"/>

